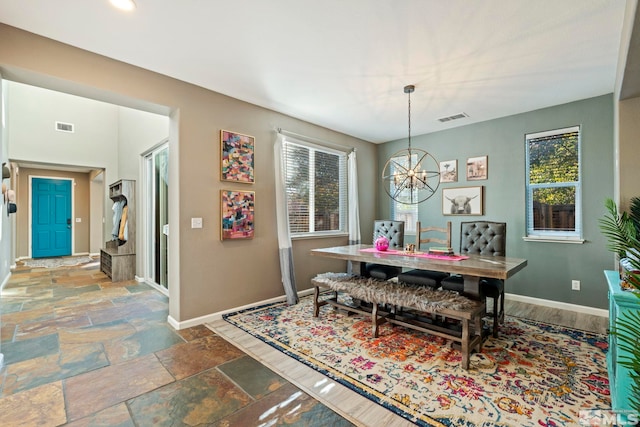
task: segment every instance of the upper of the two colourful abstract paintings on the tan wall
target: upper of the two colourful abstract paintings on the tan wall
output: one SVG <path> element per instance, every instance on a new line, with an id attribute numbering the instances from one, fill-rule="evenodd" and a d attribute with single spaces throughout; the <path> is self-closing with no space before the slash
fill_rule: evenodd
<path id="1" fill-rule="evenodd" d="M 249 135 L 220 131 L 220 180 L 253 184 L 255 139 Z"/>

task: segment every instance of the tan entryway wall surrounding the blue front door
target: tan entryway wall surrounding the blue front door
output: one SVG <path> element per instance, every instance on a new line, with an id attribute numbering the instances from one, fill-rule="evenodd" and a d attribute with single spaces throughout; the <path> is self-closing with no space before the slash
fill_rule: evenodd
<path id="1" fill-rule="evenodd" d="M 31 256 L 31 240 L 29 234 L 29 209 L 31 205 L 30 177 L 36 178 L 67 178 L 73 179 L 71 191 L 73 192 L 73 253 L 89 253 L 89 174 L 78 172 L 63 172 L 47 169 L 20 168 L 18 170 L 18 185 L 16 188 L 16 257 L 29 258 Z M 80 218 L 81 222 L 75 222 Z"/>

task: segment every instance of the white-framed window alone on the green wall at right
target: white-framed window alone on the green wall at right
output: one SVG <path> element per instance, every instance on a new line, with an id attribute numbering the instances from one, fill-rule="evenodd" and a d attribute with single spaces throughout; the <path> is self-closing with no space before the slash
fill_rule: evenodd
<path id="1" fill-rule="evenodd" d="M 527 237 L 579 240 L 580 127 L 528 134 Z"/>

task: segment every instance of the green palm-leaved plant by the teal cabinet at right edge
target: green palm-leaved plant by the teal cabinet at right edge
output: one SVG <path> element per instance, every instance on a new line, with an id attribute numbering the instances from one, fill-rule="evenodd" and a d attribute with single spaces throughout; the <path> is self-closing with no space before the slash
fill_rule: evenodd
<path id="1" fill-rule="evenodd" d="M 619 212 L 616 203 L 607 199 L 608 213 L 600 219 L 600 230 L 608 239 L 607 249 L 624 260 L 627 286 L 640 298 L 640 198 L 631 199 L 629 212 Z M 640 301 L 640 299 L 639 299 Z M 618 317 L 610 331 L 618 339 L 618 347 L 628 352 L 620 364 L 631 372 L 632 395 L 629 402 L 640 412 L 640 310 L 629 311 Z"/>

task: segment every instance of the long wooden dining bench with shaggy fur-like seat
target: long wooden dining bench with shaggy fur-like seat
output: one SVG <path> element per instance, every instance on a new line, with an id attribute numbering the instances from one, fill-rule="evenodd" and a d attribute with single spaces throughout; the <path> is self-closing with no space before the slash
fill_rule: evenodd
<path id="1" fill-rule="evenodd" d="M 320 315 L 320 307 L 329 304 L 348 312 L 370 315 L 374 337 L 378 337 L 380 325 L 389 322 L 450 339 L 460 345 L 463 369 L 469 368 L 472 350 L 482 351 L 484 301 L 469 299 L 455 291 L 434 290 L 350 273 L 318 274 L 311 279 L 311 284 L 314 287 L 314 317 Z M 331 295 L 321 299 L 320 288 L 330 289 Z M 339 293 L 367 304 L 348 303 L 344 298 L 339 301 Z M 460 327 L 439 324 L 433 320 L 438 315 L 459 321 Z"/>

